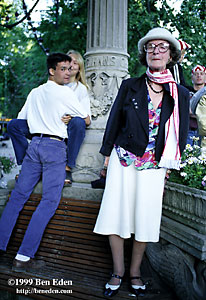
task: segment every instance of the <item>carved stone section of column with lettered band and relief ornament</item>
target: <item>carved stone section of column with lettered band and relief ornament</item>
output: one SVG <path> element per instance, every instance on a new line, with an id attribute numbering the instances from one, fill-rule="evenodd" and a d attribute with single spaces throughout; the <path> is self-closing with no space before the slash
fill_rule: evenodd
<path id="1" fill-rule="evenodd" d="M 93 51 L 85 55 L 93 120 L 110 110 L 123 79 L 128 77 L 128 56 Z"/>

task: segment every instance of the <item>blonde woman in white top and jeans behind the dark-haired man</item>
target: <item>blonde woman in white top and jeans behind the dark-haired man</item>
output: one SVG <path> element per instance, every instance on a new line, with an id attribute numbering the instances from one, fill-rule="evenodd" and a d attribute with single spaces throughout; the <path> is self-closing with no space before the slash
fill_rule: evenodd
<path id="1" fill-rule="evenodd" d="M 73 53 L 73 52 L 72 52 Z M 78 52 L 75 52 L 76 55 Z M 87 114 L 91 118 L 90 110 L 90 100 L 87 88 L 84 84 L 81 83 L 82 76 L 84 75 L 84 65 L 83 58 L 82 60 L 75 60 L 72 58 L 71 54 L 71 70 L 69 74 L 69 83 L 65 86 L 68 89 L 72 89 L 77 96 L 77 105 L 80 103 L 83 108 L 86 110 Z M 80 57 L 81 55 L 78 54 Z M 78 56 L 78 57 L 79 57 Z M 77 80 L 77 78 L 78 80 Z M 73 81 L 74 80 L 74 81 Z M 49 112 L 49 111 L 48 111 Z M 72 117 L 70 115 L 64 116 L 61 118 L 62 122 L 67 124 L 67 166 L 66 166 L 66 180 L 65 185 L 70 186 L 72 184 L 72 168 L 76 165 L 76 159 L 82 145 L 82 142 L 85 137 L 85 129 L 90 125 L 90 118 L 84 119 L 81 117 Z M 68 122 L 69 121 L 69 122 Z M 24 113 L 20 112 L 17 116 L 17 119 L 12 119 L 7 124 L 7 132 L 11 138 L 16 162 L 18 165 L 21 165 L 28 148 L 28 139 L 31 139 L 31 133 L 29 131 L 27 120 L 24 119 Z"/>

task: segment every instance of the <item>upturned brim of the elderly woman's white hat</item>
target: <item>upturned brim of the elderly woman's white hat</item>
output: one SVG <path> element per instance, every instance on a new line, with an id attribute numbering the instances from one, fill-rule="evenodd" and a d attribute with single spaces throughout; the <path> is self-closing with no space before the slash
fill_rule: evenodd
<path id="1" fill-rule="evenodd" d="M 172 35 L 165 37 L 165 34 L 156 34 L 152 36 L 145 36 L 141 38 L 138 42 L 138 51 L 139 53 L 144 52 L 144 45 L 147 44 L 147 42 L 152 40 L 165 40 L 168 41 L 170 44 L 172 44 L 177 50 L 181 50 L 180 44 L 178 40 L 176 40 Z"/>

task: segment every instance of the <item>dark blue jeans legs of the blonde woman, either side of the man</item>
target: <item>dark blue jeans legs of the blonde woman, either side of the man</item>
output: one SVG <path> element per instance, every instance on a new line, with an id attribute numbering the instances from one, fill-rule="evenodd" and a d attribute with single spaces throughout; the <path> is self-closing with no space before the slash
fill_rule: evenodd
<path id="1" fill-rule="evenodd" d="M 70 168 L 76 165 L 76 159 L 85 137 L 85 129 L 85 121 L 80 117 L 72 118 L 67 126 L 67 165 Z M 7 131 L 13 144 L 17 164 L 21 165 L 28 148 L 27 139 L 31 139 L 27 121 L 13 119 L 8 123 Z"/>

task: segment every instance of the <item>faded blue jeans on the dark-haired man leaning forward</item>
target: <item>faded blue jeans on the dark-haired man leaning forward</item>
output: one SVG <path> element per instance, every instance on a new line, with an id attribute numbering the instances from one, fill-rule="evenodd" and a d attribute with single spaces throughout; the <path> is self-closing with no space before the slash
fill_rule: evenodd
<path id="1" fill-rule="evenodd" d="M 66 144 L 47 137 L 33 137 L 21 173 L 0 220 L 0 249 L 6 250 L 20 211 L 42 175 L 42 199 L 25 232 L 19 254 L 34 257 L 44 230 L 54 215 L 65 180 Z"/>

